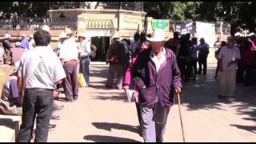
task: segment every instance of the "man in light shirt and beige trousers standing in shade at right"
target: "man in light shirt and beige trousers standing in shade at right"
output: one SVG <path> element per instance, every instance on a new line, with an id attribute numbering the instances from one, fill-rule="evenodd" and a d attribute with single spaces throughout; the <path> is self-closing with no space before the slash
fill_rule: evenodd
<path id="1" fill-rule="evenodd" d="M 234 37 L 226 39 L 227 46 L 223 46 L 218 54 L 220 75 L 220 94 L 218 98 L 231 98 L 236 85 L 238 61 L 241 59 L 240 50 L 234 46 Z"/>

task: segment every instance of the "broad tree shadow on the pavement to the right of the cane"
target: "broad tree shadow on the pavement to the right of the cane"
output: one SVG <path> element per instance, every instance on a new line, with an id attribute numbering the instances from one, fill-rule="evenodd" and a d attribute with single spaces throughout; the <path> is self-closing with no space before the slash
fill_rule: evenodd
<path id="1" fill-rule="evenodd" d="M 183 83 L 182 103 L 186 105 L 187 110 L 226 110 L 225 106 L 228 106 L 233 107 L 236 114 L 250 116 L 250 119 L 246 120 L 255 121 L 251 118 L 256 117 L 256 88 L 246 90 L 243 83 L 237 82 L 232 100 L 218 99 L 219 81 L 218 78 L 214 78 L 214 74 L 214 66 L 209 66 L 207 75 L 197 75 L 197 81 Z M 175 104 L 177 104 L 176 96 Z"/>

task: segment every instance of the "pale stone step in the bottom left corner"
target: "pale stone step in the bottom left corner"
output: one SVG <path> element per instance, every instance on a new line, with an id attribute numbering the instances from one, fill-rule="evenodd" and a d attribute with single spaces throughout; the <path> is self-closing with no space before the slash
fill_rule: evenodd
<path id="1" fill-rule="evenodd" d="M 0 142 L 16 142 L 21 116 L 0 114 Z"/>

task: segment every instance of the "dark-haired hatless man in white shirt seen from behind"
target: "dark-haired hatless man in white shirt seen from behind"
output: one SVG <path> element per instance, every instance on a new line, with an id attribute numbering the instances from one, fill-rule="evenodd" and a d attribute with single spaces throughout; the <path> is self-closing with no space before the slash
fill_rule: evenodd
<path id="1" fill-rule="evenodd" d="M 30 142 L 36 115 L 34 142 L 47 142 L 55 84 L 66 77 L 61 62 L 48 46 L 50 34 L 46 30 L 38 30 L 34 33 L 34 41 L 35 50 L 24 52 L 18 66 L 18 94 L 19 101 L 23 101 L 18 142 Z"/>

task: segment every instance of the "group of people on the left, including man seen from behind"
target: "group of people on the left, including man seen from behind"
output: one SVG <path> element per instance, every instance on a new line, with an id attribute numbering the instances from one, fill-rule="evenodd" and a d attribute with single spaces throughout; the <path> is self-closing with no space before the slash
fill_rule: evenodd
<path id="1" fill-rule="evenodd" d="M 3 114 L 22 115 L 18 142 L 30 142 L 33 135 L 34 142 L 46 142 L 49 128 L 54 127 L 49 123 L 50 118 L 60 119 L 52 112 L 64 107 L 54 102 L 60 88 L 63 88 L 66 102 L 74 102 L 78 100 L 78 73 L 84 75 L 86 86 L 89 86 L 90 58 L 95 56 L 97 48 L 91 46 L 84 33 L 78 34 L 77 44 L 74 31 L 66 28 L 59 36 L 58 46 L 52 49 L 49 30 L 45 27 L 32 35 L 33 48 L 30 47 L 31 39 L 26 39 L 25 35 L 15 47 L 10 44 L 9 34 L 2 42 L 3 46 L 5 43 L 9 46 L 2 49 L 3 55 L 10 51 L 11 60 L 6 60 L 6 64 L 18 69 L 13 70 L 4 83 L 0 108 Z"/>

